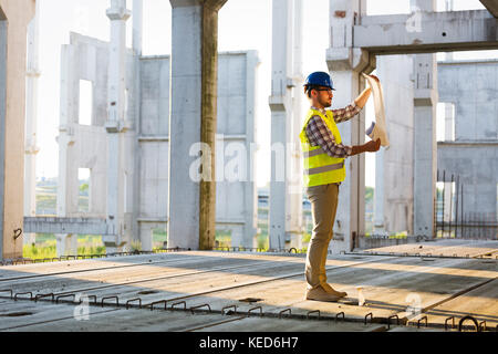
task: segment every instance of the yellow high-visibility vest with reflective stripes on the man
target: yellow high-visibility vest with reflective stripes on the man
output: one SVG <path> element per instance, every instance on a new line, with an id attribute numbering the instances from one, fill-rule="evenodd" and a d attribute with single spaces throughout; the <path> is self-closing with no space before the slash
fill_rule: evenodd
<path id="1" fill-rule="evenodd" d="M 326 115 L 323 115 L 320 111 L 313 108 L 308 111 L 307 118 L 304 119 L 301 133 L 299 134 L 303 152 L 305 187 L 334 184 L 345 179 L 344 158 L 330 157 L 319 145 L 311 146 L 308 140 L 305 128 L 308 122 L 315 115 L 320 116 L 323 122 L 325 122 L 326 126 L 334 135 L 335 143 L 340 144 L 342 142 L 341 134 L 339 133 L 331 111 L 326 111 Z"/>

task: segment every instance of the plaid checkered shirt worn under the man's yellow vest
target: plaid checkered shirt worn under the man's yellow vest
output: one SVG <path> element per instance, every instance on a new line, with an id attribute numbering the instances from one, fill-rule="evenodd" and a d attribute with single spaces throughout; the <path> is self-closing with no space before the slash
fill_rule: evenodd
<path id="1" fill-rule="evenodd" d="M 315 107 L 311 107 L 313 110 L 320 111 L 325 114 L 325 110 L 318 110 Z M 354 117 L 360 113 L 362 108 L 356 106 L 354 103 L 350 104 L 345 108 L 341 110 L 332 110 L 334 115 L 335 123 L 346 122 Z M 330 156 L 330 157 L 347 157 L 351 155 L 353 148 L 347 145 L 336 144 L 334 135 L 326 126 L 323 119 L 315 115 L 310 118 L 307 125 L 307 136 L 310 140 L 311 146 L 320 145 L 321 148 Z"/>

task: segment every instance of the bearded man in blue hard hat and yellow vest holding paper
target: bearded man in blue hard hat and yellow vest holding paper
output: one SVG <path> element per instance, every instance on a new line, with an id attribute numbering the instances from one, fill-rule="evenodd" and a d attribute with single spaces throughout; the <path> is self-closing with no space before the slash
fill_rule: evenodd
<path id="1" fill-rule="evenodd" d="M 378 81 L 377 77 L 374 77 Z M 336 123 L 355 116 L 366 104 L 371 88 L 365 88 L 342 110 L 325 111 L 332 104 L 333 83 L 324 72 L 310 74 L 304 84 L 304 93 L 311 104 L 301 134 L 304 160 L 304 186 L 311 201 L 313 232 L 308 248 L 305 299 L 338 301 L 346 295 L 326 283 L 325 261 L 332 228 L 338 208 L 339 186 L 345 179 L 344 159 L 365 152 L 377 152 L 381 140 L 370 140 L 364 145 L 342 144 Z"/>

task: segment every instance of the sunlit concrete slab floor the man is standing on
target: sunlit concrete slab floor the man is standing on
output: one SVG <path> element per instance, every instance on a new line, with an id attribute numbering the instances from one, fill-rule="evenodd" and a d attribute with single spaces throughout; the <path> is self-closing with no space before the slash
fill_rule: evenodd
<path id="1" fill-rule="evenodd" d="M 6 266 L 0 331 L 495 332 L 497 251 L 498 241 L 443 240 L 329 256 L 329 283 L 347 292 L 340 302 L 304 299 L 305 254 L 181 251 Z"/>

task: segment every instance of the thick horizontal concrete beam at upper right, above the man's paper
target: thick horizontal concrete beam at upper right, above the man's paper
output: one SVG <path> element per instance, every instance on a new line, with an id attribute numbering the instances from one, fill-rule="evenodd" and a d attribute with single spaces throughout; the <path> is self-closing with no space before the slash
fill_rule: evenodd
<path id="1" fill-rule="evenodd" d="M 486 10 L 362 17 L 353 46 L 373 54 L 498 49 L 497 19 Z"/>

